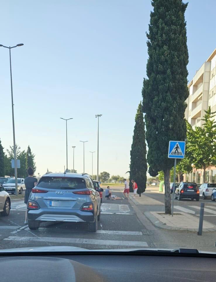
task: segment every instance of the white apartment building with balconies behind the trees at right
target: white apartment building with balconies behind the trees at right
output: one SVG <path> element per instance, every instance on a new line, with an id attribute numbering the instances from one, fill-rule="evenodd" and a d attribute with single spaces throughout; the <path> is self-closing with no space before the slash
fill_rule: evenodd
<path id="1" fill-rule="evenodd" d="M 193 79 L 188 85 L 189 97 L 186 100 L 187 108 L 185 118 L 195 126 L 202 126 L 205 110 L 210 106 L 212 112 L 216 111 L 216 49 L 210 57 L 196 71 Z M 216 116 L 215 116 L 216 121 Z M 206 182 L 216 183 L 216 167 L 210 166 L 206 170 Z M 194 168 L 193 173 L 184 175 L 184 181 L 203 183 L 203 171 Z"/>

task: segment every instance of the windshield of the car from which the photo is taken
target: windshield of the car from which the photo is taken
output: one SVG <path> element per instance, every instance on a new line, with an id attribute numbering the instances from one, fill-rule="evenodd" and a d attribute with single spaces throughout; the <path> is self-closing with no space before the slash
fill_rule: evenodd
<path id="1" fill-rule="evenodd" d="M 0 249 L 216 252 L 216 1 L 0 8 Z"/>

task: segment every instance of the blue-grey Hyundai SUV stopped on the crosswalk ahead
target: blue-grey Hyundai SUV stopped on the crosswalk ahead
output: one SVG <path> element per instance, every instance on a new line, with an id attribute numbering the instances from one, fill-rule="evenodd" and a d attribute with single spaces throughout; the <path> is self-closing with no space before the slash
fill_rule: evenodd
<path id="1" fill-rule="evenodd" d="M 87 222 L 97 231 L 101 199 L 87 173 L 49 173 L 43 175 L 30 193 L 28 226 L 36 230 L 42 221 Z"/>

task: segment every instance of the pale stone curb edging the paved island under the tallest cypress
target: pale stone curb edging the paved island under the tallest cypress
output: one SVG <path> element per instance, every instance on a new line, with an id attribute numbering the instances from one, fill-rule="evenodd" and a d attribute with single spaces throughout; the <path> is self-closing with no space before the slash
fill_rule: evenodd
<path id="1" fill-rule="evenodd" d="M 151 221 L 154 226 L 162 229 L 168 229 L 168 230 L 186 230 L 186 231 L 191 231 L 191 232 L 197 232 L 198 227 L 196 228 L 184 228 L 184 227 L 172 227 L 172 226 L 167 226 L 166 224 L 163 224 L 162 222 L 157 219 L 154 215 L 151 214 L 151 212 L 144 212 L 144 215 Z M 203 228 L 203 232 L 210 232 L 210 231 L 216 231 L 216 226 L 213 228 Z"/>

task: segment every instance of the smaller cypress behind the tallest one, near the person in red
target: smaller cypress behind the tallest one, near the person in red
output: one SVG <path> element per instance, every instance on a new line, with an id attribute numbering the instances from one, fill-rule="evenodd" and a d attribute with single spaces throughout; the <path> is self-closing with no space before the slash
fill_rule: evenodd
<path id="1" fill-rule="evenodd" d="M 145 123 L 142 112 L 142 104 L 140 102 L 134 126 L 133 143 L 130 151 L 130 180 L 134 180 L 138 186 L 138 194 L 141 194 L 146 189 L 146 137 Z M 130 181 L 130 191 L 132 192 L 132 183 Z"/>

